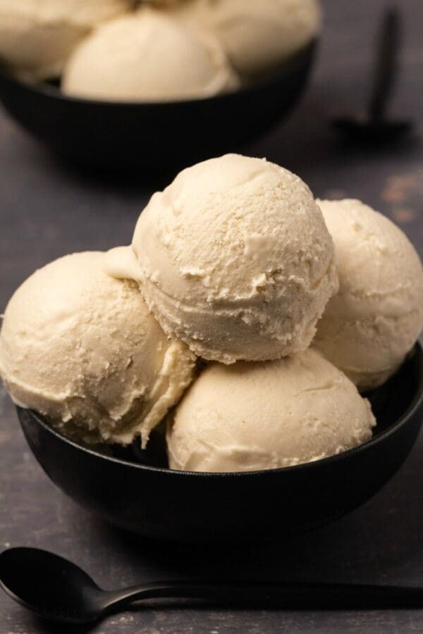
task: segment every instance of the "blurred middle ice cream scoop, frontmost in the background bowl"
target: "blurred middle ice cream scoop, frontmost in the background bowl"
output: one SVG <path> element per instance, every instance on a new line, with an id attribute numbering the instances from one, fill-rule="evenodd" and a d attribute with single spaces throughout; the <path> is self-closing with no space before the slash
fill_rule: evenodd
<path id="1" fill-rule="evenodd" d="M 238 87 L 214 35 L 142 8 L 100 27 L 68 61 L 66 94 L 114 101 L 210 97 Z"/>

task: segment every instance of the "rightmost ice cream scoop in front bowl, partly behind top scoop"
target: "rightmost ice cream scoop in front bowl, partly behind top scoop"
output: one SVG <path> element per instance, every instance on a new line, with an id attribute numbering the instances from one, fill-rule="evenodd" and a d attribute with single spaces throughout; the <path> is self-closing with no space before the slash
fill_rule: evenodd
<path id="1" fill-rule="evenodd" d="M 338 257 L 340 289 L 314 339 L 360 390 L 386 381 L 423 328 L 423 268 L 405 234 L 358 200 L 318 201 Z"/>

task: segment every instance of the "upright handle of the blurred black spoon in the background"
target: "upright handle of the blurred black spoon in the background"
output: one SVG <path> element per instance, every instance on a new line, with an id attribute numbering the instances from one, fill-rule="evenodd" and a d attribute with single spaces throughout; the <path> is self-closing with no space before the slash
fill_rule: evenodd
<path id="1" fill-rule="evenodd" d="M 376 66 L 369 101 L 370 119 L 379 119 L 384 116 L 396 78 L 399 46 L 400 13 L 398 8 L 388 8 L 384 15 L 376 51 Z"/>

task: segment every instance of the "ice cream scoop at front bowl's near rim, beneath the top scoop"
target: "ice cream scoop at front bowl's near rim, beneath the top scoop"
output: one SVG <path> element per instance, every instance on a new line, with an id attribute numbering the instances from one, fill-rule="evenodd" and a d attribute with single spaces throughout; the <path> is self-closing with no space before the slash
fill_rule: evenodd
<path id="1" fill-rule="evenodd" d="M 372 437 L 369 402 L 318 352 L 212 363 L 168 416 L 173 469 L 256 471 L 339 454 Z"/>

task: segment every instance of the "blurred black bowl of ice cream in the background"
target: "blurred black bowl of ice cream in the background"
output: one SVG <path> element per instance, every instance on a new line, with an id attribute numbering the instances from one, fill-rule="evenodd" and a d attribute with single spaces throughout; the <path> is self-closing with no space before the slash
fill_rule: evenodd
<path id="1" fill-rule="evenodd" d="M 6 110 L 65 159 L 100 167 L 185 166 L 233 150 L 274 125 L 305 87 L 316 42 L 270 77 L 209 99 L 115 103 L 75 99 L 0 73 Z"/>

